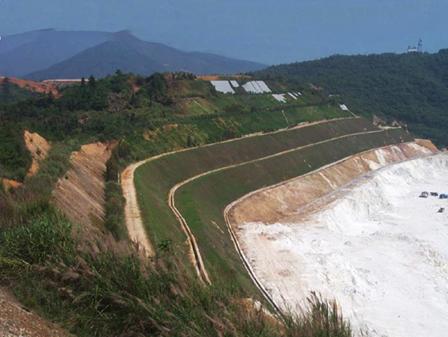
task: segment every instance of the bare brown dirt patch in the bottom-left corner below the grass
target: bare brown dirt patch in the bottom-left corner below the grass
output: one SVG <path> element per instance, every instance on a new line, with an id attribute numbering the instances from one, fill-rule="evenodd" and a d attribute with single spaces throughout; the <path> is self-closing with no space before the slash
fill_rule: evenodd
<path id="1" fill-rule="evenodd" d="M 0 337 L 68 337 L 64 330 L 24 309 L 0 288 Z"/>

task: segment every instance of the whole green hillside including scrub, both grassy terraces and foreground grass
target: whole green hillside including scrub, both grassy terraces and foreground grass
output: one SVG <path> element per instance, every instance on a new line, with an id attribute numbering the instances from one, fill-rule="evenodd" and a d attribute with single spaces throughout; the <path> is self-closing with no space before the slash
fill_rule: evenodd
<path id="1" fill-rule="evenodd" d="M 290 84 L 269 85 L 284 92 Z M 117 72 L 63 88 L 60 97 L 1 101 L 0 176 L 24 185 L 0 190 L 0 284 L 79 336 L 352 336 L 336 305 L 318 296 L 310 298 L 308 312 L 281 322 L 243 304 L 242 298 L 260 296 L 227 237 L 222 210 L 252 189 L 408 135 L 382 131 L 296 149 L 376 129 L 366 119 L 347 118 L 337 99 L 315 88 L 290 88 L 303 96 L 282 104 L 271 95 L 220 94 L 186 73 Z M 292 128 L 333 118 L 344 119 Z M 52 143 L 34 177 L 25 177 L 24 129 Z M 202 146 L 278 129 L 284 130 Z M 50 200 L 70 153 L 95 141 L 116 147 L 106 165 L 104 225 L 92 229 L 69 223 Z M 147 261 L 128 242 L 119 173 L 131 162 L 179 149 L 186 150 L 136 172 L 144 220 L 159 247 Z M 286 150 L 293 151 L 244 164 Z M 239 166 L 197 179 L 176 195 L 213 279 L 203 287 L 185 263 L 185 236 L 167 196 L 176 183 L 228 165 Z"/>

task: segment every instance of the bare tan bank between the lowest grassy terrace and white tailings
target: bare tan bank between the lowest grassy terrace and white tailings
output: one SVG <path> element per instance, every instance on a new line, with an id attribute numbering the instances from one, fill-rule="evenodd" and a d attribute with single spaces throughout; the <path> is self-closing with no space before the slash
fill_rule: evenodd
<path id="1" fill-rule="evenodd" d="M 303 213 L 305 208 L 312 210 L 313 202 L 369 171 L 437 151 L 430 141 L 416 140 L 353 155 L 310 174 L 243 197 L 230 208 L 230 222 L 237 229 L 243 223 L 287 221 L 288 217 Z"/>

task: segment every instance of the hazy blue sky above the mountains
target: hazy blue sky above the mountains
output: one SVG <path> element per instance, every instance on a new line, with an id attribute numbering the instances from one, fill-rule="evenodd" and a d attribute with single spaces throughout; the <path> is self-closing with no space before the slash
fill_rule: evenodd
<path id="1" fill-rule="evenodd" d="M 448 0 L 0 0 L 0 34 L 118 31 L 264 63 L 448 47 Z"/>

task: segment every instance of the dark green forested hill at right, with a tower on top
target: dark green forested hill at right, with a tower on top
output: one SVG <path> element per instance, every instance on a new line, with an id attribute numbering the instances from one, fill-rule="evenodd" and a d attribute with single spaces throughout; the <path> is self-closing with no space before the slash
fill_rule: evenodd
<path id="1" fill-rule="evenodd" d="M 361 114 L 399 120 L 422 137 L 448 145 L 448 49 L 436 54 L 332 56 L 279 65 L 257 73 L 314 84 L 340 94 Z"/>

